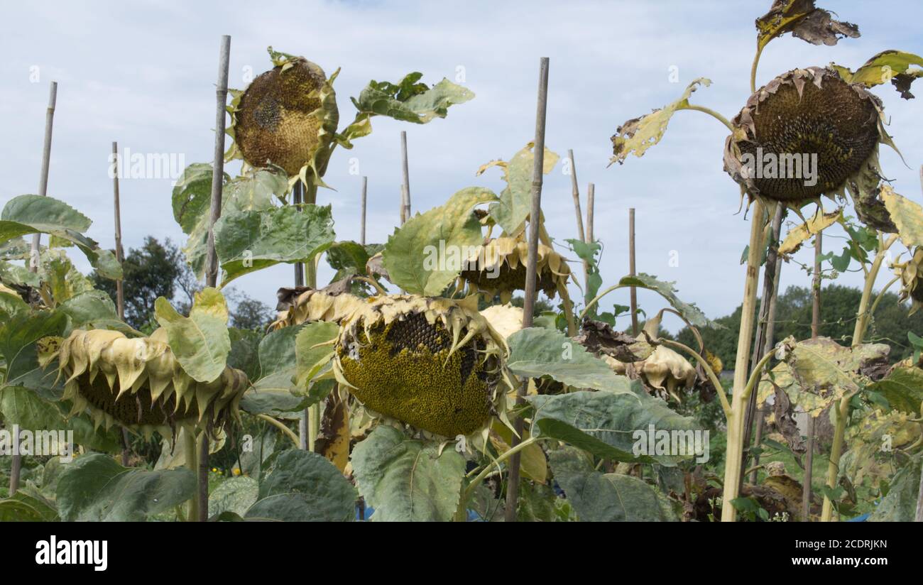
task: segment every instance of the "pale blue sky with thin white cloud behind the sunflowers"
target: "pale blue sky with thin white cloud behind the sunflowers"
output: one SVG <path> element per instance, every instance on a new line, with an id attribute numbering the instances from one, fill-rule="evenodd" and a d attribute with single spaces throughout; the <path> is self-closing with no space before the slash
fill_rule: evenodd
<path id="1" fill-rule="evenodd" d="M 338 239 L 357 240 L 361 177 L 367 175 L 367 241 L 384 242 L 398 221 L 401 130 L 408 136 L 414 212 L 435 207 L 466 186 L 499 193 L 503 183 L 497 170 L 480 177 L 475 172 L 486 161 L 508 160 L 533 139 L 539 58 L 547 56 L 545 144 L 562 157 L 573 149 L 584 205 L 586 185 L 595 185 L 604 281 L 613 283 L 628 273 L 628 209 L 634 208 L 638 270 L 676 281 L 680 298 L 710 317 L 724 316 L 740 303 L 745 277 L 740 257 L 749 240 L 749 217 L 738 213 L 739 189 L 723 171 L 725 126 L 701 113 L 677 113 L 660 144 L 643 158 L 608 167 L 610 137 L 629 118 L 676 100 L 700 77 L 713 84 L 698 90 L 692 101 L 734 116 L 749 97 L 753 21 L 771 4 L 4 2 L 6 23 L 18 26 L 0 37 L 5 137 L 0 205 L 38 190 L 48 88 L 57 81 L 48 194 L 88 215 L 90 237 L 114 247 L 112 142 L 118 141 L 123 154 L 130 149 L 167 154 L 186 164 L 209 162 L 219 45 L 221 35 L 229 34 L 233 88 L 245 88 L 249 78 L 270 68 L 269 45 L 305 55 L 328 75 L 342 67 L 334 85 L 342 124 L 353 118 L 349 98 L 370 79 L 397 81 L 421 71 L 428 83 L 461 80 L 475 93 L 473 101 L 453 106 L 446 119 L 428 125 L 375 118 L 371 136 L 356 140 L 352 150 L 336 150 L 325 177 L 336 190 L 322 189 L 318 203 L 332 204 Z M 923 54 L 917 25 L 923 4 L 818 4 L 857 23 L 861 38 L 833 47 L 790 35 L 777 39 L 763 52 L 758 86 L 798 66 L 833 61 L 856 68 L 885 49 Z M 875 93 L 909 165 L 882 147 L 883 173 L 898 193 L 920 201 L 921 102 L 900 99 L 890 86 Z M 120 189 L 126 249 L 138 247 L 147 235 L 185 243 L 173 218 L 169 177 L 123 179 Z M 561 163 L 545 177 L 542 205 L 557 242 L 576 237 L 570 176 Z M 841 234 L 825 238 L 825 250 L 839 252 Z M 811 254 L 804 250 L 796 259 L 809 264 Z M 78 267 L 89 269 L 83 259 Z M 329 276 L 330 270 L 321 270 L 321 279 Z M 272 305 L 276 290 L 292 278 L 292 268 L 282 265 L 247 275 L 234 286 Z M 889 279 L 888 270 L 882 270 L 879 285 Z M 781 282 L 783 288 L 807 286 L 809 276 L 793 262 L 783 268 Z M 858 286 L 861 274 L 847 273 L 837 282 Z M 603 310 L 612 304 L 628 304 L 628 293 L 606 297 Z M 639 304 L 649 313 L 663 305 L 645 292 L 639 293 Z M 665 326 L 676 330 L 681 323 Z"/>

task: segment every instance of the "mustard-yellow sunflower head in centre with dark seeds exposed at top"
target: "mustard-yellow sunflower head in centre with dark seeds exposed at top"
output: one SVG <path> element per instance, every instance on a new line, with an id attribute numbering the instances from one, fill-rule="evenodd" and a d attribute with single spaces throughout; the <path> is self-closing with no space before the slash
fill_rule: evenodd
<path id="1" fill-rule="evenodd" d="M 471 435 L 501 415 L 511 388 L 502 337 L 476 299 L 369 299 L 343 320 L 334 372 L 373 412 L 438 436 Z"/>

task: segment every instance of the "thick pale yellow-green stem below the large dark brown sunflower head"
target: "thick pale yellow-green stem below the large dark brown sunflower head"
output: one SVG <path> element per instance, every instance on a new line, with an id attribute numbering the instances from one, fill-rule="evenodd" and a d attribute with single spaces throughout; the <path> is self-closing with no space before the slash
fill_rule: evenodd
<path id="1" fill-rule="evenodd" d="M 753 204 L 753 219 L 751 221 L 747 277 L 744 281 L 740 331 L 737 335 L 737 361 L 734 365 L 734 394 L 731 398 L 731 413 L 727 418 L 724 505 L 721 508 L 721 520 L 723 522 L 733 522 L 737 519 L 737 509 L 731 505 L 731 501 L 737 498 L 740 485 L 741 461 L 744 448 L 744 422 L 747 418 L 749 391 L 752 391 L 752 387 L 749 385 L 748 366 L 750 344 L 753 341 L 753 325 L 756 317 L 756 290 L 760 282 L 760 259 L 762 257 L 762 245 L 765 241 L 763 233 L 766 226 L 766 210 L 759 199 Z"/>

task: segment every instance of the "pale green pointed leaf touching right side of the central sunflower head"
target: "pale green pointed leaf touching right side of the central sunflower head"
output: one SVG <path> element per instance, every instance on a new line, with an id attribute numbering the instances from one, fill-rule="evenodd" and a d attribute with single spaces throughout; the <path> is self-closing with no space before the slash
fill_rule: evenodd
<path id="1" fill-rule="evenodd" d="M 574 388 L 631 392 L 627 377 L 617 376 L 603 360 L 557 329 L 520 329 L 507 343 L 507 366 L 517 376 L 551 376 Z"/>

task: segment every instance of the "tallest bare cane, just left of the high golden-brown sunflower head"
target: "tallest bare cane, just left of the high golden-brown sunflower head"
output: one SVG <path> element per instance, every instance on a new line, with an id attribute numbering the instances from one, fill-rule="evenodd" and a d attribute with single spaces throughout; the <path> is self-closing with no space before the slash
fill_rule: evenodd
<path id="1" fill-rule="evenodd" d="M 211 173 L 211 217 L 209 223 L 209 256 L 206 285 L 218 285 L 218 254 L 215 252 L 215 222 L 222 216 L 222 184 L 224 177 L 224 117 L 228 97 L 228 65 L 231 61 L 231 37 L 222 35 L 218 59 L 218 87 L 215 90 L 215 151 Z M 198 521 L 209 519 L 209 433 L 203 431 L 198 447 Z"/>

